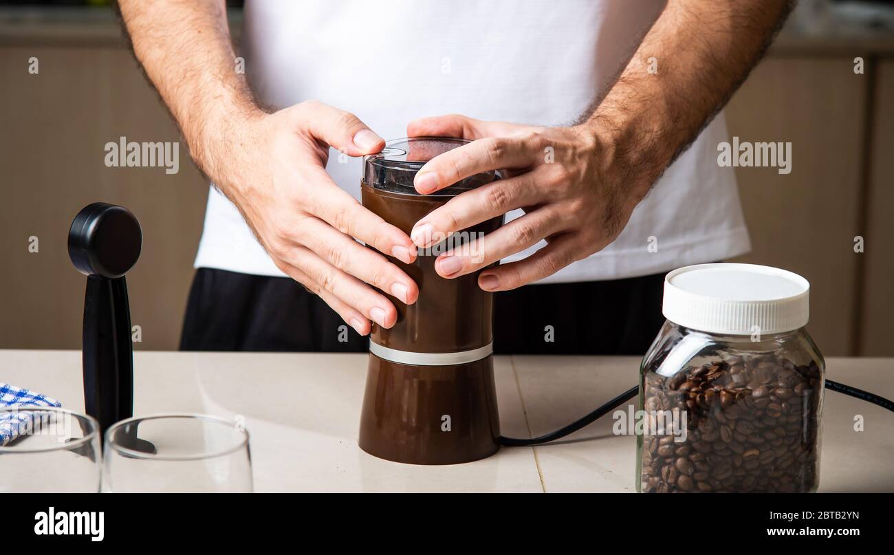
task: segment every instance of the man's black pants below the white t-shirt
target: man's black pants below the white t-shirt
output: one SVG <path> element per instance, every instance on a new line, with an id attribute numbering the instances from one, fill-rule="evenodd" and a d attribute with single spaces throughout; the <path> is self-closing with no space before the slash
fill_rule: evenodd
<path id="1" fill-rule="evenodd" d="M 663 282 L 664 274 L 656 273 L 496 293 L 493 349 L 501 354 L 643 355 L 664 322 Z M 365 352 L 368 341 L 289 278 L 199 268 L 180 348 Z"/>

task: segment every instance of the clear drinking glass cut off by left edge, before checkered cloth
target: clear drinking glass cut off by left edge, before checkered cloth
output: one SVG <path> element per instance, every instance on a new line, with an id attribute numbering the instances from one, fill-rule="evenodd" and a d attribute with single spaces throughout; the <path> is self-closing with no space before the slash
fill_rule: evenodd
<path id="1" fill-rule="evenodd" d="M 96 493 L 99 425 L 65 408 L 0 408 L 0 425 L 18 436 L 0 447 L 0 492 Z"/>

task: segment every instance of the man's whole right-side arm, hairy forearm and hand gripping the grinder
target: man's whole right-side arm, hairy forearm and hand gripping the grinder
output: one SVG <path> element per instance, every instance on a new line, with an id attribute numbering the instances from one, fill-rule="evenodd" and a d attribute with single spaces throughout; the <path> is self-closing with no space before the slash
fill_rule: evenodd
<path id="1" fill-rule="evenodd" d="M 426 247 L 435 232 L 460 231 L 514 208 L 526 214 L 481 240 L 468 256 L 435 263 L 456 277 L 547 240 L 526 259 L 485 270 L 485 290 L 509 290 L 555 273 L 615 240 L 630 214 L 761 58 L 791 9 L 790 0 L 668 0 L 618 80 L 578 125 L 537 128 L 458 115 L 411 122 L 414 135 L 473 139 L 436 156 L 417 175 L 420 193 L 486 170 L 496 181 L 452 198 L 417 223 Z M 544 79 L 550 76 L 544 75 Z M 443 235 L 436 235 L 443 237 Z M 644 238 L 645 240 L 645 238 Z"/>

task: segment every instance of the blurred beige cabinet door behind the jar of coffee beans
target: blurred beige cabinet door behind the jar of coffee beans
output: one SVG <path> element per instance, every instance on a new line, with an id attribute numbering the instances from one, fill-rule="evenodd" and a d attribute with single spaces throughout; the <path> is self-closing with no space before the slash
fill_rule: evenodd
<path id="1" fill-rule="evenodd" d="M 808 330 L 826 356 L 856 354 L 866 88 L 852 56 L 770 57 L 726 112 L 730 139 L 792 144 L 789 174 L 737 169 L 752 240 L 752 252 L 738 261 L 779 266 L 810 282 Z"/>

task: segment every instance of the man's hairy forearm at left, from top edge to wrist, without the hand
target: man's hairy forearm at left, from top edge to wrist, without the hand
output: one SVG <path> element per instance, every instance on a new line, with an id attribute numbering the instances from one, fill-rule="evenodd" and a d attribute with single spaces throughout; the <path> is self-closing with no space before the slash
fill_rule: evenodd
<path id="1" fill-rule="evenodd" d="M 260 113 L 235 71 L 223 0 L 118 4 L 133 52 L 180 126 L 190 155 L 216 179 L 219 146 L 235 137 L 234 122 Z"/>

